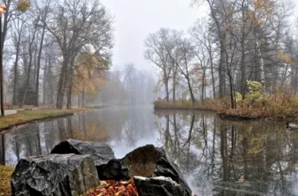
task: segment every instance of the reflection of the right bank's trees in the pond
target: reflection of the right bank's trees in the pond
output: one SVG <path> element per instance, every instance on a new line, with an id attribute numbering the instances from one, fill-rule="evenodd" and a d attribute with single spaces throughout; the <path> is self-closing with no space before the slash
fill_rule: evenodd
<path id="1" fill-rule="evenodd" d="M 160 143 L 198 195 L 297 194 L 298 134 L 283 124 L 222 121 L 202 112 L 156 114 Z"/>

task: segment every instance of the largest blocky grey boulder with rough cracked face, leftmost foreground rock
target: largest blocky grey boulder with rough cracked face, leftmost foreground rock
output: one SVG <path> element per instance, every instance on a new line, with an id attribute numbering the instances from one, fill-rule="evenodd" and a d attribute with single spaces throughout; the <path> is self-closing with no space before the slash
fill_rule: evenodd
<path id="1" fill-rule="evenodd" d="M 100 184 L 90 155 L 20 159 L 12 174 L 12 195 L 80 195 Z"/>

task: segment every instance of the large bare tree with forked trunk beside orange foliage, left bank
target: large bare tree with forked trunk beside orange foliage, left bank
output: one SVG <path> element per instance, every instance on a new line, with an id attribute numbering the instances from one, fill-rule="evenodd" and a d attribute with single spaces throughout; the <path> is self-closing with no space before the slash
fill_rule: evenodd
<path id="1" fill-rule="evenodd" d="M 44 26 L 55 37 L 63 58 L 56 106 L 62 109 L 65 93 L 68 92 L 70 108 L 77 55 L 86 51 L 109 61 L 112 48 L 112 20 L 109 12 L 98 1 L 67 0 L 59 2 L 52 12 L 54 14 L 44 22 Z"/>

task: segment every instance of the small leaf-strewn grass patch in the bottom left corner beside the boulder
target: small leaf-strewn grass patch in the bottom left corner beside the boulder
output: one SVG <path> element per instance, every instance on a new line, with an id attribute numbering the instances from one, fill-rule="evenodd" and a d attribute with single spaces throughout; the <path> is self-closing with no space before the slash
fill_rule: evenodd
<path id="1" fill-rule="evenodd" d="M 14 168 L 0 165 L 0 195 L 11 195 L 11 176 Z"/>

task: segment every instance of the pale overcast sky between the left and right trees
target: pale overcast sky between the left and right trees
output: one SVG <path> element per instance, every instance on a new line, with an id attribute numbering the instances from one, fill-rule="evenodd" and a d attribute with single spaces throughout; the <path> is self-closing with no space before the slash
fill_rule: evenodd
<path id="1" fill-rule="evenodd" d="M 144 59 L 144 40 L 160 28 L 187 31 L 207 9 L 190 5 L 190 0 L 101 0 L 115 20 L 113 66 L 132 62 L 137 68 L 153 70 Z M 294 0 L 298 2 L 298 0 Z"/>

